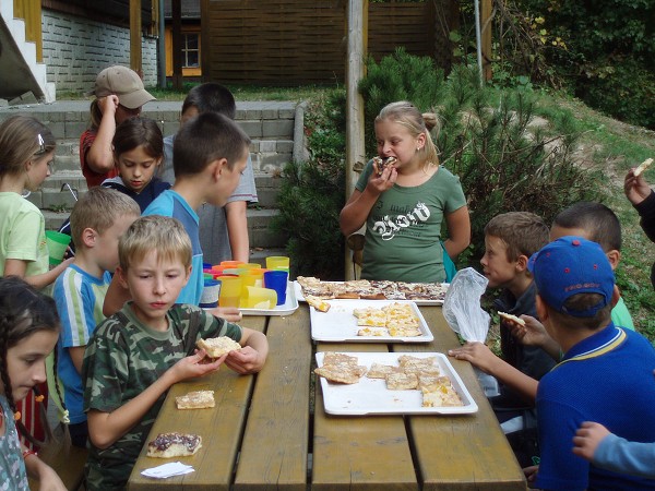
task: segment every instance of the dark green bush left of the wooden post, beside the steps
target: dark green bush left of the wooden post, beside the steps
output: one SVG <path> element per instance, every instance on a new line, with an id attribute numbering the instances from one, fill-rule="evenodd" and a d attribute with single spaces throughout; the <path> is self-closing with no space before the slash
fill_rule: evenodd
<path id="1" fill-rule="evenodd" d="M 310 158 L 285 166 L 277 215 L 271 228 L 287 233 L 295 273 L 342 279 L 344 237 L 338 215 L 345 203 L 345 93 L 332 91 L 306 111 Z"/>

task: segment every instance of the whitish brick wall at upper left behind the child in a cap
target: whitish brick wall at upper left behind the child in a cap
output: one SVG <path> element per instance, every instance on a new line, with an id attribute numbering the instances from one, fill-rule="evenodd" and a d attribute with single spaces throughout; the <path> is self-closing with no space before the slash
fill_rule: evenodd
<path id="1" fill-rule="evenodd" d="M 130 29 L 44 9 L 41 17 L 44 63 L 48 82 L 61 93 L 93 89 L 100 70 L 130 64 Z M 157 40 L 142 38 L 143 83 L 157 83 Z"/>

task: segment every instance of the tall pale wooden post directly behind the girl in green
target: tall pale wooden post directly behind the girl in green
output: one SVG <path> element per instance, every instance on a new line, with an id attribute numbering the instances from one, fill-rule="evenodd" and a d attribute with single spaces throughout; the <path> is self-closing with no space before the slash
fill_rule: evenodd
<path id="1" fill-rule="evenodd" d="M 368 0 L 348 0 L 348 61 L 346 65 L 346 200 L 355 190 L 355 164 L 366 164 L 364 143 L 364 98 L 357 84 L 366 74 L 368 52 Z M 346 248 L 346 279 L 355 276 L 353 256 Z"/>

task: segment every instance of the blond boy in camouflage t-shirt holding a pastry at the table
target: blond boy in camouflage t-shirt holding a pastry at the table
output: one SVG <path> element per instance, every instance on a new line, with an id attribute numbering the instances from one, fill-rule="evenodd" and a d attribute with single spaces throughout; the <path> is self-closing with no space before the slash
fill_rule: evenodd
<path id="1" fill-rule="evenodd" d="M 90 491 L 126 488 L 172 384 L 224 362 L 238 373 L 259 372 L 269 351 L 262 333 L 175 303 L 191 272 L 191 241 L 177 219 L 139 218 L 120 239 L 119 259 L 116 273 L 133 300 L 97 327 L 84 356 Z M 207 362 L 195 342 L 218 336 L 243 349 Z"/>

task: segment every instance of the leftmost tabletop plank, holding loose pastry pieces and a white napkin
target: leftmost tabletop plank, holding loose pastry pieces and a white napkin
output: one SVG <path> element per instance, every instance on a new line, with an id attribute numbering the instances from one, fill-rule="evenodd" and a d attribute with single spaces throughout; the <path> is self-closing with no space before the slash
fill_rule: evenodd
<path id="1" fill-rule="evenodd" d="M 242 326 L 257 331 L 263 331 L 265 324 L 266 318 L 262 316 L 247 316 L 241 322 Z M 227 367 L 222 367 L 218 372 L 206 378 L 180 382 L 170 387 L 146 442 L 154 440 L 158 433 L 178 431 L 200 434 L 203 443 L 195 455 L 179 458 L 181 463 L 193 466 L 195 471 L 166 479 L 167 489 L 229 490 L 254 376 L 239 375 Z M 178 410 L 175 407 L 176 396 L 203 390 L 214 391 L 216 407 L 199 410 Z M 146 457 L 146 451 L 144 445 L 130 475 L 130 491 L 157 490 L 163 486 L 157 479 L 141 476 L 143 469 L 168 462 Z"/>

